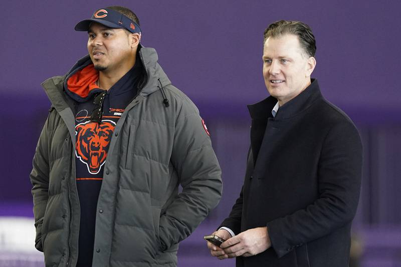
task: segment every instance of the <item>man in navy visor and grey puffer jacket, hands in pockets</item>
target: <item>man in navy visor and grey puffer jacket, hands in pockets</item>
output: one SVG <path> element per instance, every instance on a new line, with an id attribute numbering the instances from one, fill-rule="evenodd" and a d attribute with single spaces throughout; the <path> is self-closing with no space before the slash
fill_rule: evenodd
<path id="1" fill-rule="evenodd" d="M 75 30 L 89 55 L 42 84 L 36 248 L 46 266 L 176 266 L 178 242 L 221 197 L 205 122 L 140 44 L 132 11 L 98 9 Z"/>

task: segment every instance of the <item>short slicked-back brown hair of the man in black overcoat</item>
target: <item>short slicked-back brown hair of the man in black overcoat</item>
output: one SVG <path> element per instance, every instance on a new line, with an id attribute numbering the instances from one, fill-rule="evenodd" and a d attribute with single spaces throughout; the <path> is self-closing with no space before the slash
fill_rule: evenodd
<path id="1" fill-rule="evenodd" d="M 301 47 L 309 57 L 316 54 L 316 41 L 312 29 L 303 22 L 298 21 L 277 21 L 269 25 L 263 34 L 263 44 L 269 37 L 281 37 L 285 34 L 293 34 L 298 37 Z"/>

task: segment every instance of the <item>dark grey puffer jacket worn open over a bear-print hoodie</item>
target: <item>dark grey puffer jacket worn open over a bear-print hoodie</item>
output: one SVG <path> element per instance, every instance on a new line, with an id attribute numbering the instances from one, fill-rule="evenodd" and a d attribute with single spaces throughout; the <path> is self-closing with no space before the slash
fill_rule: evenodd
<path id="1" fill-rule="evenodd" d="M 171 85 L 154 49 L 138 53 L 146 76 L 110 141 L 97 204 L 94 267 L 176 266 L 178 242 L 221 198 L 221 170 L 198 110 Z M 75 122 L 65 79 L 42 84 L 54 109 L 30 175 L 36 247 L 44 251 L 46 266 L 75 266 L 78 257 Z"/>

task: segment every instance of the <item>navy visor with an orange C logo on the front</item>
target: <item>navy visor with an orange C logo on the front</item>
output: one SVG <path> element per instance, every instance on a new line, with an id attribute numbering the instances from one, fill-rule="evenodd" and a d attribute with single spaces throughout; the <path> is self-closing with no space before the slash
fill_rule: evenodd
<path id="1" fill-rule="evenodd" d="M 112 29 L 127 29 L 131 33 L 141 34 L 139 25 L 127 16 L 111 9 L 97 10 L 91 19 L 83 20 L 75 25 L 75 31 L 87 32 L 92 22 L 100 23 Z"/>

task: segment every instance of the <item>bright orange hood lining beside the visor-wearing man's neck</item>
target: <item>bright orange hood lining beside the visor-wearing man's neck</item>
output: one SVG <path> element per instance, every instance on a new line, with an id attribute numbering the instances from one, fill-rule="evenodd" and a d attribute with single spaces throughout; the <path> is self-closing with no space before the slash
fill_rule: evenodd
<path id="1" fill-rule="evenodd" d="M 96 81 L 99 79 L 99 72 L 95 70 L 95 66 L 90 64 L 80 71 L 74 73 L 67 81 L 68 89 L 74 94 L 82 98 L 86 98 L 89 92 L 95 88 Z"/>

